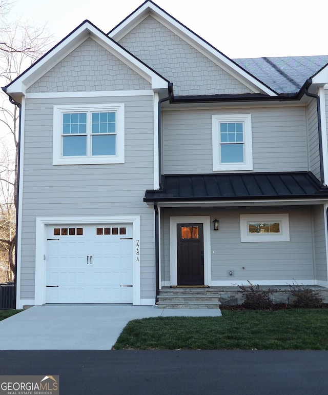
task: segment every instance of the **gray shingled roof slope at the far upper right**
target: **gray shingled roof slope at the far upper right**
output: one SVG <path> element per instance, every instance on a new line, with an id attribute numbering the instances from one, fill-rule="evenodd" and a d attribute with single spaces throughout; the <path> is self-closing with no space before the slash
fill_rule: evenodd
<path id="1" fill-rule="evenodd" d="M 276 92 L 296 93 L 308 78 L 328 63 L 328 55 L 242 58 L 234 61 Z"/>

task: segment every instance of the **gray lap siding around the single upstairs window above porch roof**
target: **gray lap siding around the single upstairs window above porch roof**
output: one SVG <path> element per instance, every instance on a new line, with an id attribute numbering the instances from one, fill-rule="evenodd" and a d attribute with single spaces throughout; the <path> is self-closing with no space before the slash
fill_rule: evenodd
<path id="1" fill-rule="evenodd" d="M 212 115 L 252 115 L 253 170 L 308 171 L 304 107 L 163 111 L 163 172 L 211 173 Z"/>

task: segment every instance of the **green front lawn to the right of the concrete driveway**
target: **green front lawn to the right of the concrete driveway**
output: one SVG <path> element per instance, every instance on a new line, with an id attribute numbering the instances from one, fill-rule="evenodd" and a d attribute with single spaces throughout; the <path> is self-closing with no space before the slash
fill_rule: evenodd
<path id="1" fill-rule="evenodd" d="M 328 309 L 222 311 L 130 321 L 115 349 L 328 350 Z"/>

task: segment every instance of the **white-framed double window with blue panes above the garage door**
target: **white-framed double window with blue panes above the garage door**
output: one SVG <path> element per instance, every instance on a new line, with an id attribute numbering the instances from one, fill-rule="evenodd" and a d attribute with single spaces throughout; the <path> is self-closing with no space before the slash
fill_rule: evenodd
<path id="1" fill-rule="evenodd" d="M 124 163 L 124 104 L 54 106 L 53 164 Z"/>

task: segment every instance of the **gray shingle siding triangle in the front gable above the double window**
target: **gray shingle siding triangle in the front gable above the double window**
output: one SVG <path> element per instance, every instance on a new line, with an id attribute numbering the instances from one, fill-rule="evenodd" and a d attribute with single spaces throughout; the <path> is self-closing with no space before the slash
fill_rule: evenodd
<path id="1" fill-rule="evenodd" d="M 150 89 L 150 83 L 91 38 L 86 39 L 27 92 Z"/>

